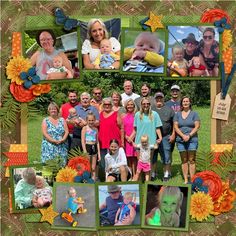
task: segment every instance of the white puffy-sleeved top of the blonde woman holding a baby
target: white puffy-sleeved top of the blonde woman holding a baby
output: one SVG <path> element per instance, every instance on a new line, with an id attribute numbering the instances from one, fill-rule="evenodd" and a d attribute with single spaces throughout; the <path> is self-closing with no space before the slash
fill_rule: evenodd
<path id="1" fill-rule="evenodd" d="M 111 41 L 112 51 L 115 53 L 120 51 L 120 42 L 114 37 L 111 37 L 109 40 Z M 82 54 L 89 54 L 89 59 L 91 63 L 94 63 L 95 59 L 100 54 L 100 49 L 92 48 L 91 42 L 86 39 L 82 45 Z"/>

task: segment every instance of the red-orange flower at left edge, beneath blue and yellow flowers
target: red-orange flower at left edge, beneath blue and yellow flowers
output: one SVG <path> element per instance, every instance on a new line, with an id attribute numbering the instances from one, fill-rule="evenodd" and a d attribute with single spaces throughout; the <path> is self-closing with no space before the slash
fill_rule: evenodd
<path id="1" fill-rule="evenodd" d="M 17 85 L 15 82 L 10 84 L 10 92 L 18 102 L 31 102 L 35 99 L 31 90 L 25 89 L 23 85 Z"/>

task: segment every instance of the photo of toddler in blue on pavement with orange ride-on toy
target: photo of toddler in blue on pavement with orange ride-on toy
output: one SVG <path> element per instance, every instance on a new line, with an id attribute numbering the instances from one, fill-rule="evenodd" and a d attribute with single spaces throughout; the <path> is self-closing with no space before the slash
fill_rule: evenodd
<path id="1" fill-rule="evenodd" d="M 54 218 L 55 227 L 96 227 L 94 185 L 55 183 L 54 188 L 54 207 L 59 213 Z"/>

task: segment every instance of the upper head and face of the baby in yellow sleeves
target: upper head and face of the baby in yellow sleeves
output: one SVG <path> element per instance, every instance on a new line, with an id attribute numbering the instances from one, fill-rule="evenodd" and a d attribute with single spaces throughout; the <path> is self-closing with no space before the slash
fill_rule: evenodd
<path id="1" fill-rule="evenodd" d="M 159 40 L 152 33 L 141 33 L 135 40 L 135 49 L 158 53 L 160 51 Z"/>

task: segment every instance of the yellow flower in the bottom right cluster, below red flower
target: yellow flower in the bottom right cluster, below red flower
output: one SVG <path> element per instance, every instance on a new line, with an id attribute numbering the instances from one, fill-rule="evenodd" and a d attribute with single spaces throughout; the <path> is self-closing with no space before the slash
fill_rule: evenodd
<path id="1" fill-rule="evenodd" d="M 203 192 L 194 193 L 191 196 L 190 215 L 197 221 L 207 219 L 213 210 L 213 202 L 209 194 Z"/>

